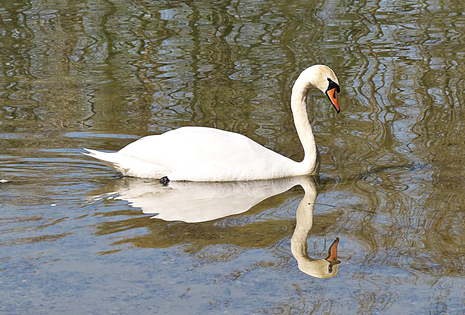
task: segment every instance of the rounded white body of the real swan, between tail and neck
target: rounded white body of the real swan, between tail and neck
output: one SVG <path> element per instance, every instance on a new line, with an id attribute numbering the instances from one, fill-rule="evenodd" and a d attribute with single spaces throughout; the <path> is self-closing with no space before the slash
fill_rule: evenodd
<path id="1" fill-rule="evenodd" d="M 118 153 L 169 170 L 166 176 L 172 181 L 286 177 L 297 163 L 242 134 L 208 127 L 181 127 L 147 136 Z"/>

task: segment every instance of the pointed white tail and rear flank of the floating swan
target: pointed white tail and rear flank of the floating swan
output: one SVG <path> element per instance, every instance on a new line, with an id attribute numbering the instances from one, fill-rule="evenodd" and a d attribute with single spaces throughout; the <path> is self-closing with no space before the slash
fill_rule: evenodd
<path id="1" fill-rule="evenodd" d="M 166 168 L 157 164 L 148 163 L 139 160 L 133 156 L 120 154 L 119 152 L 102 152 L 97 150 L 86 149 L 87 152 L 82 154 L 92 156 L 100 161 L 103 161 L 106 166 L 116 169 L 118 172 L 126 176 L 142 177 L 142 178 L 161 178 L 171 173 Z"/>

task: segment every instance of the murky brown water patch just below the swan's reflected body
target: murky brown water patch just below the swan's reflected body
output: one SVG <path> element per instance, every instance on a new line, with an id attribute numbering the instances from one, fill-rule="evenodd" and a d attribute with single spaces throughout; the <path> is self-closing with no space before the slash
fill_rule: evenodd
<path id="1" fill-rule="evenodd" d="M 127 215 L 127 213 L 120 214 Z M 315 221 L 318 223 L 316 222 L 313 226 L 312 234 L 324 235 L 337 217 L 337 213 L 315 216 Z M 189 244 L 185 250 L 194 253 L 201 252 L 207 246 L 218 244 L 244 248 L 267 248 L 283 237 L 291 236 L 294 232 L 295 220 L 258 221 L 244 226 L 222 227 L 220 219 L 207 223 L 171 223 L 142 217 L 102 223 L 96 234 L 107 235 L 132 228 L 147 228 L 149 232 L 146 235 L 131 237 L 113 244 L 133 243 L 141 248 L 169 248 L 174 245 Z"/>

